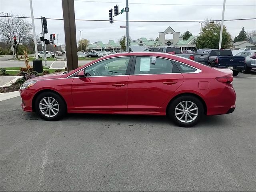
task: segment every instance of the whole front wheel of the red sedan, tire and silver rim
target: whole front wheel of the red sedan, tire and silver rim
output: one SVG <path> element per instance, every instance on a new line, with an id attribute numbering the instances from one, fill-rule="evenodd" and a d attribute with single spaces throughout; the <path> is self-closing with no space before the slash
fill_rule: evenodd
<path id="1" fill-rule="evenodd" d="M 65 101 L 54 92 L 42 92 L 35 104 L 36 112 L 47 121 L 59 120 L 66 114 Z"/>

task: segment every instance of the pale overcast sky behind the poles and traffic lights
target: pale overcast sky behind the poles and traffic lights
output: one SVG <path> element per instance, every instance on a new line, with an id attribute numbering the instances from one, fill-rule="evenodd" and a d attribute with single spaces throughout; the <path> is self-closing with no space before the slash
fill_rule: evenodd
<path id="1" fill-rule="evenodd" d="M 126 5 L 126 0 L 88 1 L 74 0 L 76 19 L 108 20 L 110 8 L 114 9 L 114 6 L 118 4 L 119 10 L 121 10 Z M 32 0 L 32 3 L 34 17 L 63 18 L 61 0 Z M 222 17 L 223 0 L 129 0 L 129 3 L 129 20 L 204 20 L 205 18 L 221 20 Z M 156 5 L 157 3 L 182 5 Z M 31 17 L 29 0 L 0 0 L 0 11 Z M 256 18 L 256 0 L 226 0 L 224 19 L 241 18 Z M 126 20 L 126 14 L 114 17 L 114 20 Z M 31 19 L 28 21 L 31 22 Z M 63 21 L 47 20 L 47 24 L 48 34 L 46 34 L 46 38 L 49 39 L 51 33 L 59 34 L 59 44 L 64 44 Z M 234 39 L 242 27 L 246 31 L 255 30 L 256 20 L 224 21 L 224 25 L 227 26 L 228 32 Z M 36 19 L 35 26 L 36 34 L 40 34 L 42 32 L 41 21 Z M 76 21 L 76 38 L 77 40 L 80 39 L 78 30 L 83 30 L 82 38 L 90 40 L 91 43 L 96 41 L 107 43 L 108 40 L 117 42 L 121 36 L 126 34 L 126 29 L 120 28 L 120 26 L 126 26 L 126 22 L 110 24 L 101 21 Z M 140 37 L 155 39 L 158 37 L 158 32 L 163 32 L 168 26 L 181 33 L 186 30 L 189 30 L 193 35 L 200 33 L 198 22 L 130 22 L 129 34 L 132 40 Z"/>

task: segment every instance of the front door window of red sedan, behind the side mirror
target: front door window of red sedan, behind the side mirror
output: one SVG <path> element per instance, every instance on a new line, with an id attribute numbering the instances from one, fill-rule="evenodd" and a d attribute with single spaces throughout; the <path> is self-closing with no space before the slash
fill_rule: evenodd
<path id="1" fill-rule="evenodd" d="M 86 67 L 86 76 L 125 75 L 130 57 L 110 58 Z"/>

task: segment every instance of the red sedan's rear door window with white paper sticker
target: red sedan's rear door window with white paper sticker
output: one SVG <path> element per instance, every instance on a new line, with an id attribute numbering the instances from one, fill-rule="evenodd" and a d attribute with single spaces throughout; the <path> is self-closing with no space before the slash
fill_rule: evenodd
<path id="1" fill-rule="evenodd" d="M 155 64 L 152 64 L 153 57 L 136 57 L 134 74 L 165 74 L 178 72 L 174 69 L 172 62 L 168 59 L 155 58 Z"/>

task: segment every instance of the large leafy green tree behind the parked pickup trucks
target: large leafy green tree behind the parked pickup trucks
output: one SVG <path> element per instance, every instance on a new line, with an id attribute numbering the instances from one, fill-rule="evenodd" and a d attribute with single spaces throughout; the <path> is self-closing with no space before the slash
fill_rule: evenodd
<path id="1" fill-rule="evenodd" d="M 220 23 L 206 20 L 202 27 L 202 34 L 197 37 L 196 47 L 218 49 L 219 41 Z M 221 48 L 230 48 L 231 42 L 231 35 L 227 32 L 226 26 L 223 26 Z"/>

